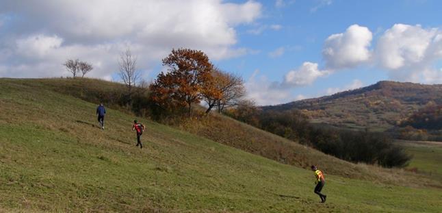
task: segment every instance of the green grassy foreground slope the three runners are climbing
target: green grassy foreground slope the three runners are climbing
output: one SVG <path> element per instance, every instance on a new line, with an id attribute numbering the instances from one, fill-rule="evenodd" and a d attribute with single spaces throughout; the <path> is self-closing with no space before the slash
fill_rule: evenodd
<path id="1" fill-rule="evenodd" d="M 317 203 L 311 171 L 209 140 L 217 134 L 204 129 L 194 131 L 207 137 L 144 118 L 138 118 L 147 125 L 140 150 L 130 131 L 133 114 L 108 108 L 102 131 L 96 127 L 96 103 L 64 94 L 62 83 L 51 88 L 41 81 L 0 79 L 0 212 L 437 212 L 440 207 L 437 180 L 430 187 L 421 176 L 342 162 L 308 147 L 291 149 L 303 149 L 299 152 L 318 164 L 334 160 L 341 171 L 391 175 L 385 178 L 393 181 L 376 174 L 370 180 L 330 175 L 328 163 L 328 202 Z M 248 130 L 257 142 L 288 142 L 252 127 L 241 131 Z M 240 144 L 236 140 L 226 143 Z"/>

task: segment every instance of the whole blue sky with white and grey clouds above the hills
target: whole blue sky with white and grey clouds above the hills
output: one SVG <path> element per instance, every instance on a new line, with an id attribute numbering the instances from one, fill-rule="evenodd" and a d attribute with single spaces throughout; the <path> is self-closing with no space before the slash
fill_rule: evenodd
<path id="1" fill-rule="evenodd" d="M 276 105 L 381 80 L 442 84 L 442 1 L 0 0 L 0 77 L 118 79 L 127 47 L 142 78 L 173 48 L 198 49 Z"/>

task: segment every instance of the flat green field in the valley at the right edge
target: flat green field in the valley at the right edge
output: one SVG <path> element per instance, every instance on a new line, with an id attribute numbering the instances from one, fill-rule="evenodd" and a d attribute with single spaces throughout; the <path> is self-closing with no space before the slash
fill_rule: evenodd
<path id="1" fill-rule="evenodd" d="M 442 142 L 400 141 L 406 152 L 413 155 L 407 166 L 417 168 L 436 177 L 442 178 Z"/>

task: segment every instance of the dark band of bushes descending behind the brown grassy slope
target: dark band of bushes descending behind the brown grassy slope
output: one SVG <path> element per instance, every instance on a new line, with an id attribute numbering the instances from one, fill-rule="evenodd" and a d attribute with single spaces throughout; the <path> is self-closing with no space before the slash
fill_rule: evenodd
<path id="1" fill-rule="evenodd" d="M 406 166 L 411 159 L 411 156 L 388 136 L 368 131 L 311 125 L 298 110 L 261 111 L 253 105 L 242 105 L 229 110 L 228 114 L 239 121 L 350 162 L 400 167 Z"/>

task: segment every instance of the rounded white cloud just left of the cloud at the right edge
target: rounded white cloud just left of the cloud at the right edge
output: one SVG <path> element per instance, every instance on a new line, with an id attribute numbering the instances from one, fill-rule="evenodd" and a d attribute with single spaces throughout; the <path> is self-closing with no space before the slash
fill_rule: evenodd
<path id="1" fill-rule="evenodd" d="M 351 25 L 346 32 L 328 36 L 322 55 L 326 67 L 331 69 L 352 68 L 370 59 L 368 49 L 372 32 L 367 27 Z"/>

